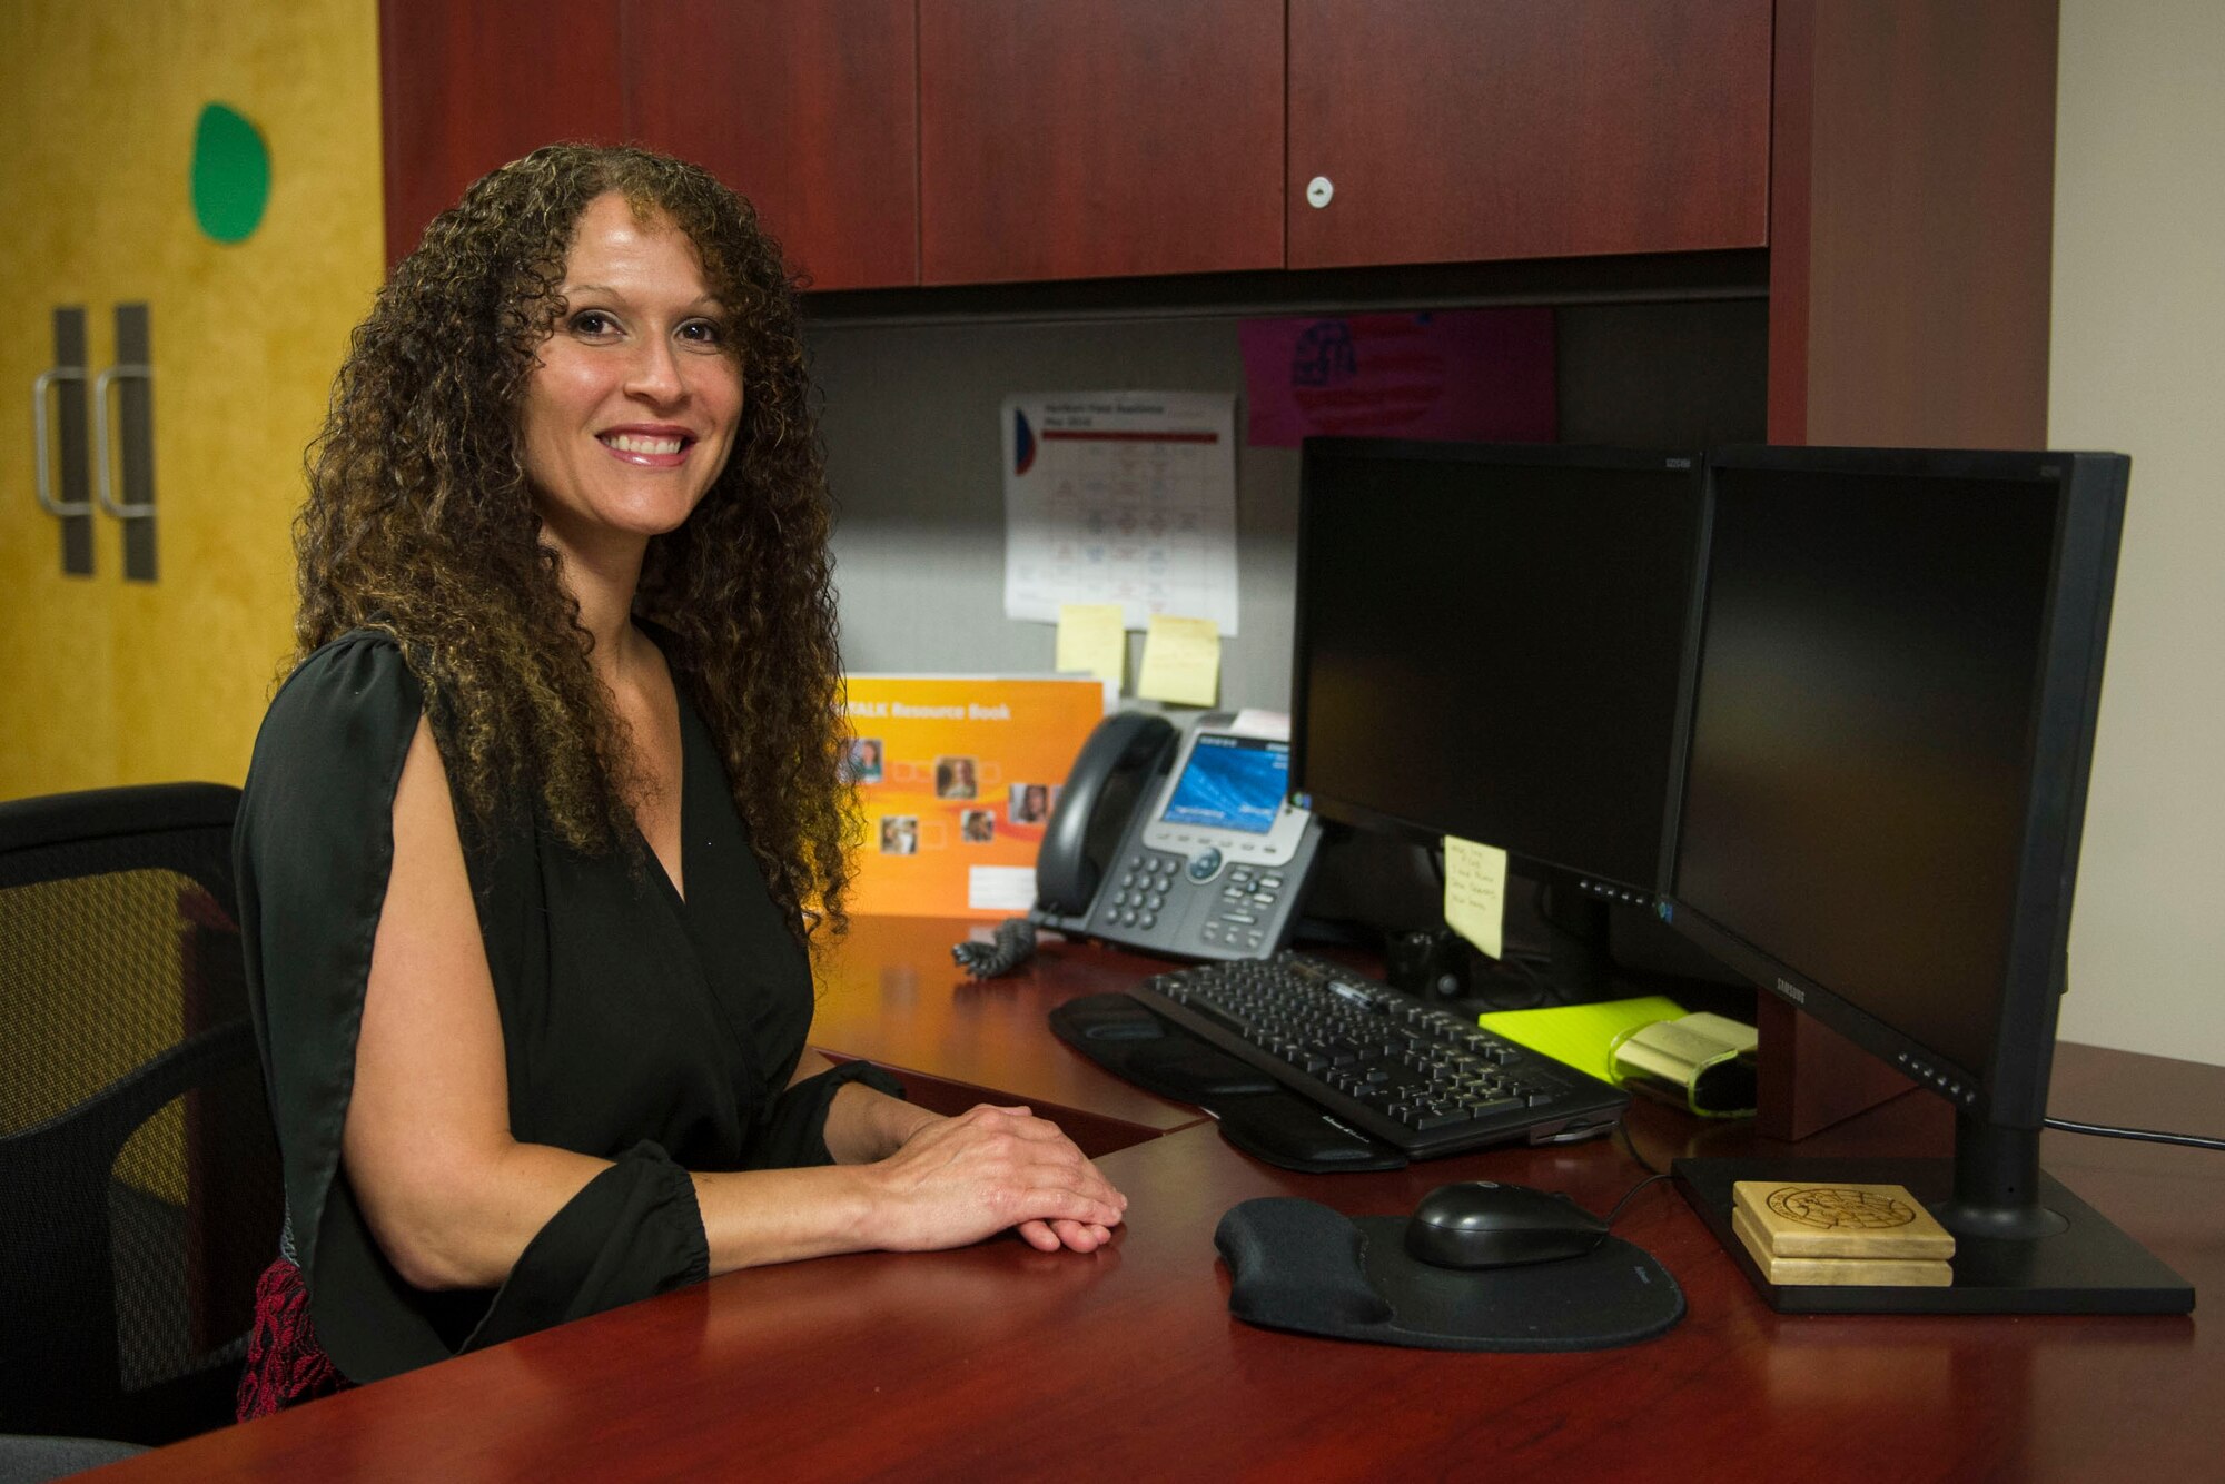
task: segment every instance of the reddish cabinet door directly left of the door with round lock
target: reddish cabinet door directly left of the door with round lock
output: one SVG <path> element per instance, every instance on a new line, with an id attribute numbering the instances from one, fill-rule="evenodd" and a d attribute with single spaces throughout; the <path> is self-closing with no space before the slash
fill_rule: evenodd
<path id="1" fill-rule="evenodd" d="M 919 0 L 923 283 L 1282 267 L 1282 0 Z"/>

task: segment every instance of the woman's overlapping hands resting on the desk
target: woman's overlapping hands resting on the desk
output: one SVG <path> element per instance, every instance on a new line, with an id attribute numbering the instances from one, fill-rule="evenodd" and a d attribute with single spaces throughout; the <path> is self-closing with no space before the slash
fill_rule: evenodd
<path id="1" fill-rule="evenodd" d="M 1041 1253 L 1095 1253 L 1128 1208 L 1075 1141 L 1028 1108 L 981 1104 L 932 1119 L 866 1173 L 870 1244 L 899 1253 L 966 1246 L 1006 1228 Z"/>

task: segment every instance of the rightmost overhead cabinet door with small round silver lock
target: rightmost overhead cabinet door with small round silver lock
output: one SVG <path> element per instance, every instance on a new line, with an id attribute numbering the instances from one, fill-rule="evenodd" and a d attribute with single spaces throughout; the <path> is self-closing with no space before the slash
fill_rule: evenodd
<path id="1" fill-rule="evenodd" d="M 1769 0 L 1290 0 L 1288 169 L 1290 267 L 1758 247 Z"/>

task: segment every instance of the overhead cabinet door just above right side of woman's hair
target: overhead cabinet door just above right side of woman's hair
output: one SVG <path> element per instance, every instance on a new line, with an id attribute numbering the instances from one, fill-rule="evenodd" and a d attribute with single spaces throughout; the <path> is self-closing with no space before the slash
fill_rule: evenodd
<path id="1" fill-rule="evenodd" d="M 919 283 L 914 0 L 623 0 L 625 131 L 748 196 L 814 289 Z"/>

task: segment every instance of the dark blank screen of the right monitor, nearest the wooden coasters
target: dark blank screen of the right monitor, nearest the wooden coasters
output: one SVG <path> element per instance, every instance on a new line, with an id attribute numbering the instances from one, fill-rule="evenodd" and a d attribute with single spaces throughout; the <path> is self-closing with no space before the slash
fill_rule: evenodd
<path id="1" fill-rule="evenodd" d="M 2058 489 L 1718 467 L 1713 496 L 1678 910 L 1982 1075 Z"/>

